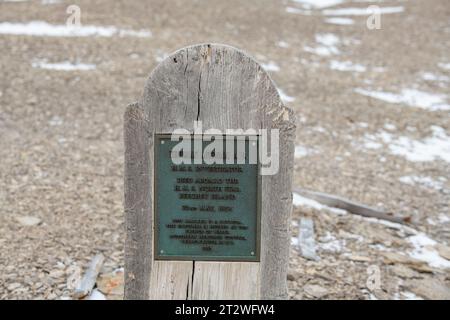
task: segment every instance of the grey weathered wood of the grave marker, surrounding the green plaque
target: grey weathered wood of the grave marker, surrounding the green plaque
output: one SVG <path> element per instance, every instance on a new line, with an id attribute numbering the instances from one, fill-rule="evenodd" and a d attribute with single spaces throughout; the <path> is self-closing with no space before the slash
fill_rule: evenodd
<path id="1" fill-rule="evenodd" d="M 183 48 L 155 68 L 124 120 L 125 298 L 287 298 L 295 121 L 262 67 L 225 45 Z M 280 130 L 279 172 L 262 176 L 260 262 L 153 258 L 153 135 L 197 120 L 203 130 Z"/>

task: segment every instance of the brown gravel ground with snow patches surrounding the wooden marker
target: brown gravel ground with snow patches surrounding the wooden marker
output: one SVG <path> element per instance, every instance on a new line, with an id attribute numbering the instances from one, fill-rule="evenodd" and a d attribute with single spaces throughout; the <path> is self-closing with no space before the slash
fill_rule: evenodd
<path id="1" fill-rule="evenodd" d="M 403 11 L 369 30 L 367 16 L 327 10 L 370 3 L 302 2 L 0 0 L 0 299 L 67 298 L 68 279 L 98 252 L 104 276 L 117 277 L 124 108 L 158 61 L 199 42 L 242 48 L 270 72 L 298 118 L 296 186 L 412 217 L 414 231 L 300 201 L 293 236 L 299 219 L 312 218 L 320 261 L 293 245 L 290 297 L 449 298 L 449 269 L 429 258 L 450 263 L 450 3 L 377 2 Z M 151 36 L 7 31 L 6 22 L 64 25 L 70 4 L 83 26 Z M 91 69 L 48 69 L 65 61 Z M 428 255 L 408 255 L 417 234 L 435 240 L 420 243 Z M 381 273 L 376 290 L 370 266 Z"/>

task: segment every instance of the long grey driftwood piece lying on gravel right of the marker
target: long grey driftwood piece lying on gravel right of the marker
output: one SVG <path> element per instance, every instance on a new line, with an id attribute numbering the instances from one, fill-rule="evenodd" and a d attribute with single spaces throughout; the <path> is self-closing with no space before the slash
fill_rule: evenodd
<path id="1" fill-rule="evenodd" d="M 392 215 L 392 213 L 388 213 L 385 211 L 381 211 L 378 209 L 374 209 L 371 207 L 368 207 L 366 205 L 356 203 L 335 195 L 317 192 L 317 191 L 311 191 L 306 190 L 302 188 L 294 188 L 294 192 L 298 193 L 299 195 L 313 199 L 321 204 L 324 204 L 329 207 L 338 208 L 346 210 L 350 213 L 357 214 L 363 217 L 369 217 L 369 218 L 377 218 L 382 220 L 387 220 L 391 222 L 396 223 L 402 223 L 406 224 L 407 222 L 410 222 L 410 218 L 401 218 L 401 217 L 395 217 Z"/>

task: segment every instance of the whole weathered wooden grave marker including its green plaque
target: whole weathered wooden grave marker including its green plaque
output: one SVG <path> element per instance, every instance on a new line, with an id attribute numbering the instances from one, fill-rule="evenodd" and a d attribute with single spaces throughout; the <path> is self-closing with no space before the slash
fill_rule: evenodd
<path id="1" fill-rule="evenodd" d="M 277 170 L 261 174 L 260 159 L 175 165 L 175 129 L 201 152 L 208 129 L 224 141 L 227 129 L 266 129 L 268 146 L 278 140 Z M 244 150 L 264 151 L 261 135 L 241 137 Z M 173 53 L 127 107 L 124 139 L 125 299 L 287 298 L 295 121 L 255 60 L 218 44 Z"/>

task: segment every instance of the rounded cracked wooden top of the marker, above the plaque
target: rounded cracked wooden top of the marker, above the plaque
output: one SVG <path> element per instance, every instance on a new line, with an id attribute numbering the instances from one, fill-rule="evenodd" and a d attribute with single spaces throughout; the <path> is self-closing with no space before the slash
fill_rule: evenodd
<path id="1" fill-rule="evenodd" d="M 221 130 L 293 122 L 264 68 L 223 44 L 197 44 L 170 54 L 151 72 L 140 104 L 150 120 L 165 119 L 158 126 L 165 132 L 194 121 Z"/>

